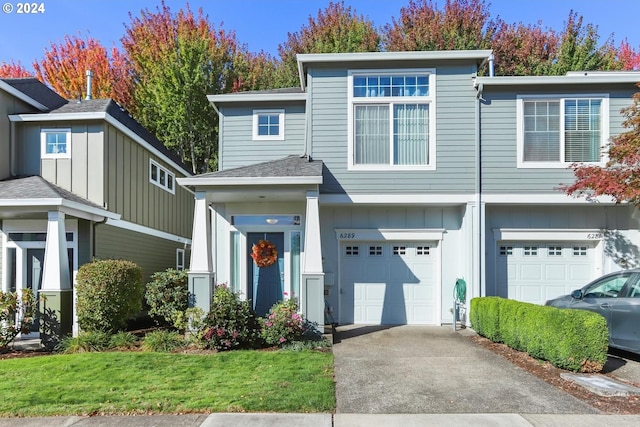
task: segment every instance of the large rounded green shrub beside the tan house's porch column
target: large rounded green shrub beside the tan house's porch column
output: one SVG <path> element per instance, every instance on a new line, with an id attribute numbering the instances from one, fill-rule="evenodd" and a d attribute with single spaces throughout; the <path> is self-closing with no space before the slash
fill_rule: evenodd
<path id="1" fill-rule="evenodd" d="M 130 261 L 97 260 L 76 276 L 76 313 L 85 331 L 115 332 L 142 309 L 142 271 Z"/>

